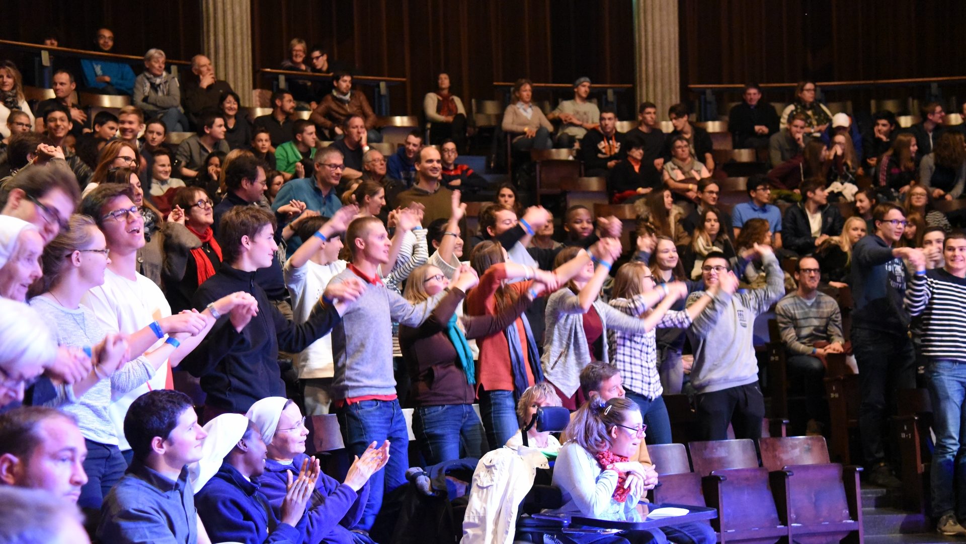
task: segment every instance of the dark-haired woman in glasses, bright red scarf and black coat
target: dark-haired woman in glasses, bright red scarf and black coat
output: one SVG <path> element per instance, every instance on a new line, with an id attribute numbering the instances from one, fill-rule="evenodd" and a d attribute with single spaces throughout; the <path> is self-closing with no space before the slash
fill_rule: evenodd
<path id="1" fill-rule="evenodd" d="M 164 296 L 172 312 L 191 308 L 198 286 L 221 268 L 221 247 L 214 240 L 212 198 L 201 187 L 182 187 L 171 199 L 168 221 L 181 223 L 194 237 L 164 239 Z"/>

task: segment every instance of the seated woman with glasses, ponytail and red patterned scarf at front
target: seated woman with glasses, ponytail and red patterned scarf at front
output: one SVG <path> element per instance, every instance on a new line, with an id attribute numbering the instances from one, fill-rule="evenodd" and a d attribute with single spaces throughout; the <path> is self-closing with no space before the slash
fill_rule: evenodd
<path id="1" fill-rule="evenodd" d="M 619 396 L 604 402 L 596 394 L 591 395 L 571 417 L 566 430 L 571 440 L 560 448 L 554 465 L 553 483 L 563 499 L 563 506 L 555 512 L 640 521 L 647 510 L 639 509 L 638 502 L 644 497 L 644 482 L 651 470 L 629 459 L 637 455 L 645 429 L 633 401 Z M 564 539 L 580 544 L 713 544 L 716 540 L 714 530 L 699 523 L 663 530 L 625 530 L 605 536 L 568 534 Z"/>

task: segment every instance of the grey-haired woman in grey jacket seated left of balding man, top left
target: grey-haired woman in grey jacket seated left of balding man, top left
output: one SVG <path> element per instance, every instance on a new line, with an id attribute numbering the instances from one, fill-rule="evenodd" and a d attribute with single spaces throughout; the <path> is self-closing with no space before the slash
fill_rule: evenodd
<path id="1" fill-rule="evenodd" d="M 148 49 L 144 54 L 144 72 L 134 79 L 133 105 L 148 117 L 160 118 L 168 132 L 185 132 L 188 123 L 181 106 L 181 87 L 177 77 L 164 71 L 166 60 L 160 49 Z"/>

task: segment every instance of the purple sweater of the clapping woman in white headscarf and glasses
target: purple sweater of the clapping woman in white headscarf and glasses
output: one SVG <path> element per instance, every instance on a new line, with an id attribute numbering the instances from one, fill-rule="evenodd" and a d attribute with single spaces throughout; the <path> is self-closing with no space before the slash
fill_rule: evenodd
<path id="1" fill-rule="evenodd" d="M 282 501 L 285 500 L 286 472 L 298 477 L 298 468 L 308 459 L 299 453 L 291 465 L 283 465 L 271 459 L 265 460 L 265 473 L 258 483 L 274 510 L 275 516 L 281 515 Z M 305 526 L 306 544 L 353 544 L 350 530 L 355 529 L 362 518 L 362 510 L 369 499 L 369 483 L 366 482 L 356 494 L 353 488 L 341 484 L 326 473 L 320 473 L 315 483 L 315 492 L 309 502 Z"/>

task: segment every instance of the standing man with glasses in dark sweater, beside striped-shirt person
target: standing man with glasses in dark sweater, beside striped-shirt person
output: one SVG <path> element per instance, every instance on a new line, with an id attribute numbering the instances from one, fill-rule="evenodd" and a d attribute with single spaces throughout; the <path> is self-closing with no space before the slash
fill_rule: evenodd
<path id="1" fill-rule="evenodd" d="M 890 391 L 916 387 L 916 354 L 909 338 L 909 315 L 902 307 L 906 290 L 907 259 L 914 267 L 925 266 L 922 249 L 895 247 L 907 221 L 892 203 L 872 211 L 875 232 L 852 246 L 852 311 L 850 339 L 859 365 L 859 431 L 866 459 L 868 481 L 899 487 L 887 462 L 886 437 L 889 415 L 896 398 Z M 897 458 L 895 448 L 889 452 Z"/>

